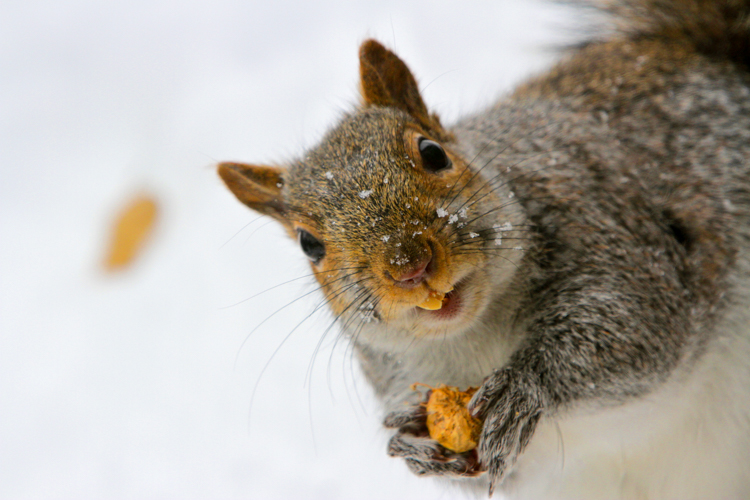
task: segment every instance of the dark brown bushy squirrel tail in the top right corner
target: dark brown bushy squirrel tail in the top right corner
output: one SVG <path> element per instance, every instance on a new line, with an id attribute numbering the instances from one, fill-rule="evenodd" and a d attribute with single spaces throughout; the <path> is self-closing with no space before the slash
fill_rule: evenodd
<path id="1" fill-rule="evenodd" d="M 593 0 L 630 36 L 692 44 L 750 68 L 750 0 Z"/>

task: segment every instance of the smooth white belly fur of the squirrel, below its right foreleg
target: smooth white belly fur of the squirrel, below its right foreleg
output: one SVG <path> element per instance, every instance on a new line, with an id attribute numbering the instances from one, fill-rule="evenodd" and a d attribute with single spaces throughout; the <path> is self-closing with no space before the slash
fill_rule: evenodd
<path id="1" fill-rule="evenodd" d="M 750 498 L 749 304 L 735 304 L 681 380 L 634 403 L 540 424 L 506 495 Z"/>

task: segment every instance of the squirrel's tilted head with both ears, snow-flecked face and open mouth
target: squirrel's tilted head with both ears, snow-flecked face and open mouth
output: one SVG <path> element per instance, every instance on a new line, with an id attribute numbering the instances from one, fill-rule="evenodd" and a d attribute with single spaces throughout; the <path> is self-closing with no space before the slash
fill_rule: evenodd
<path id="1" fill-rule="evenodd" d="M 462 331 L 496 293 L 490 276 L 512 274 L 517 258 L 498 245 L 518 219 L 497 178 L 427 111 L 404 62 L 374 40 L 359 57 L 363 102 L 319 145 L 285 167 L 225 162 L 219 175 L 298 240 L 343 322 Z"/>

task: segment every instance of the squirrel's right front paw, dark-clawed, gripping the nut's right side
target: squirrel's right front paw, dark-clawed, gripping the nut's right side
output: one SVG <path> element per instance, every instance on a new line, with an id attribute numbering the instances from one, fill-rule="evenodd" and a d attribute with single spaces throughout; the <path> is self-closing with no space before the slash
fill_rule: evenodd
<path id="1" fill-rule="evenodd" d="M 490 495 L 529 444 L 543 408 L 539 386 L 510 368 L 495 370 L 472 397 L 468 409 L 484 421 L 478 451 Z"/>

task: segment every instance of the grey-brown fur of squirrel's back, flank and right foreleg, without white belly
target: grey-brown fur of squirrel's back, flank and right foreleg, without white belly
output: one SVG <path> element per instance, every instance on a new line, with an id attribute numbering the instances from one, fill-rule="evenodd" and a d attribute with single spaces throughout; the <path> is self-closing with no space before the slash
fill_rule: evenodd
<path id="1" fill-rule="evenodd" d="M 537 231 L 517 282 L 528 333 L 472 401 L 493 485 L 541 415 L 653 391 L 690 370 L 732 307 L 748 243 L 750 77 L 653 44 L 586 47 L 451 129 Z"/>

